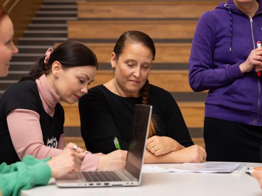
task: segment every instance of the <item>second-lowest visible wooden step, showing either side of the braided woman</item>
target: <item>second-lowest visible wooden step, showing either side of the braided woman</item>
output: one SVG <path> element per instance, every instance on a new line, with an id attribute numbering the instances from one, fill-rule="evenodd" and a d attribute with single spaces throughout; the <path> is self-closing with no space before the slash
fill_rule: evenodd
<path id="1" fill-rule="evenodd" d="M 72 105 L 62 103 L 65 110 L 66 127 L 80 127 L 80 117 L 78 102 Z M 185 122 L 189 128 L 202 128 L 204 122 L 204 103 L 203 102 L 178 102 Z"/>

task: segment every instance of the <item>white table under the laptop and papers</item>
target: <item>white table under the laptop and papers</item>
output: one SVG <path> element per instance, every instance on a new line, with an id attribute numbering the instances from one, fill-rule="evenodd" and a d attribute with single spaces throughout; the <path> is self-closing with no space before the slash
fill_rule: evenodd
<path id="1" fill-rule="evenodd" d="M 152 165 L 168 169 L 175 164 Z M 58 188 L 51 179 L 49 186 L 22 191 L 21 196 L 261 196 L 256 179 L 245 173 L 251 166 L 262 163 L 246 163 L 238 174 L 145 173 L 137 187 Z"/>

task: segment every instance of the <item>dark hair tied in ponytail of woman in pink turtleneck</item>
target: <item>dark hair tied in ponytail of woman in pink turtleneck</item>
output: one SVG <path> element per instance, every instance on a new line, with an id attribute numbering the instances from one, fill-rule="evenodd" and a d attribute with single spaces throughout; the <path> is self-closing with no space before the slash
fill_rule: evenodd
<path id="1" fill-rule="evenodd" d="M 50 55 L 48 63 L 44 63 L 45 56 L 31 69 L 29 76 L 23 80 L 36 80 L 43 74 L 49 74 L 53 62 L 59 61 L 62 67 L 94 66 L 98 68 L 96 55 L 94 52 L 77 41 L 67 41 L 54 49 Z"/>

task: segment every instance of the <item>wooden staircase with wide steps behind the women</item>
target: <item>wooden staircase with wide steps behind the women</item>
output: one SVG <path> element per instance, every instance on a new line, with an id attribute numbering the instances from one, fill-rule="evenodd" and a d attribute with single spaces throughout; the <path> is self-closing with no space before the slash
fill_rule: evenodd
<path id="1" fill-rule="evenodd" d="M 92 49 L 99 62 L 95 82 L 114 77 L 110 58 L 116 40 L 129 30 L 147 33 L 155 42 L 156 56 L 149 82 L 166 89 L 178 102 L 194 142 L 204 147 L 204 100 L 188 81 L 191 43 L 199 16 L 220 0 L 44 0 L 13 56 L 9 75 L 0 78 L 0 93 L 26 75 L 34 62 L 52 46 L 78 40 Z M 80 136 L 78 103 L 65 109 L 66 142 L 84 147 Z"/>

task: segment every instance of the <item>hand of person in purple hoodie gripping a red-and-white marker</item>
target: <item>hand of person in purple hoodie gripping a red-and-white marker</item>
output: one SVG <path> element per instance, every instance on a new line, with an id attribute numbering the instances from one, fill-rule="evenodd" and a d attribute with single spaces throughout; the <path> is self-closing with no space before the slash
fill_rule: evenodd
<path id="1" fill-rule="evenodd" d="M 250 72 L 254 68 L 256 72 L 262 71 L 262 48 L 253 49 L 239 68 L 242 73 Z"/>

